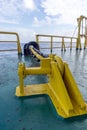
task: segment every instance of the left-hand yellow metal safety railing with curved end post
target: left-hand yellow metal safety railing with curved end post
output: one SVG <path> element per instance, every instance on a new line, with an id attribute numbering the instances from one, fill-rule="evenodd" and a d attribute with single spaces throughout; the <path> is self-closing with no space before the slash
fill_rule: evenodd
<path id="1" fill-rule="evenodd" d="M 18 51 L 18 54 L 22 54 L 22 49 L 21 49 L 21 45 L 20 45 L 20 39 L 19 39 L 19 35 L 16 32 L 4 32 L 4 31 L 0 31 L 0 35 L 14 35 L 16 36 L 16 40 L 0 40 L 0 43 L 17 43 L 17 49 L 0 49 L 0 52 L 4 52 L 4 51 Z M 4 38 L 6 39 L 6 37 Z M 4 45 L 4 44 L 3 44 Z"/>

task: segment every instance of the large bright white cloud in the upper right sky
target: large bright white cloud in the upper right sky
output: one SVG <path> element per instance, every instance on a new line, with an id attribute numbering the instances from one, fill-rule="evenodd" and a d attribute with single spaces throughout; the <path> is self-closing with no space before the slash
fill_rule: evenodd
<path id="1" fill-rule="evenodd" d="M 77 17 L 87 15 L 87 0 L 43 0 L 41 6 L 47 16 L 55 16 L 58 23 L 74 24 Z M 57 19 L 57 16 L 60 18 Z"/>

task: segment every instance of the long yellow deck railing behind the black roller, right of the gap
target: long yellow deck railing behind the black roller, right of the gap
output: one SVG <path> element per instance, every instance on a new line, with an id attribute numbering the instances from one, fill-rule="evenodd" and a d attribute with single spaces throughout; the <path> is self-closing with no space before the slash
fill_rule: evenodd
<path id="1" fill-rule="evenodd" d="M 56 40 L 55 40 L 56 39 Z M 66 50 L 66 48 L 76 48 L 77 38 L 76 37 L 68 37 L 68 36 L 55 36 L 55 35 L 36 35 L 36 42 L 40 45 L 41 43 L 44 44 L 44 47 L 40 47 L 41 49 L 50 49 L 52 53 L 53 49 L 61 48 L 61 50 Z M 46 43 L 46 44 L 45 44 Z M 49 47 L 46 45 L 50 43 Z M 56 43 L 56 46 L 54 44 Z M 57 45 L 61 45 L 60 47 Z M 66 46 L 68 44 L 68 46 Z"/>

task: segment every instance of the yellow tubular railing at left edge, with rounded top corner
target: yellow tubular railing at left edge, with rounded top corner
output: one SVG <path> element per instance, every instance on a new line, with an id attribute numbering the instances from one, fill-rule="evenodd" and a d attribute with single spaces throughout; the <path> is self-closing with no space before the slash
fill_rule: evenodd
<path id="1" fill-rule="evenodd" d="M 8 40 L 0 40 L 0 42 L 15 42 L 15 43 L 17 43 L 17 49 L 8 49 L 8 50 L 0 50 L 0 52 L 2 52 L 2 51 L 18 51 L 18 54 L 22 54 L 22 49 L 21 49 L 21 45 L 20 45 L 20 39 L 19 39 L 19 35 L 18 35 L 18 33 L 16 33 L 16 32 L 3 32 L 3 31 L 0 31 L 0 34 L 8 34 L 8 35 L 15 35 L 16 36 L 16 38 L 17 38 L 17 40 L 16 41 L 13 41 L 13 40 L 10 40 L 10 41 L 8 41 Z"/>

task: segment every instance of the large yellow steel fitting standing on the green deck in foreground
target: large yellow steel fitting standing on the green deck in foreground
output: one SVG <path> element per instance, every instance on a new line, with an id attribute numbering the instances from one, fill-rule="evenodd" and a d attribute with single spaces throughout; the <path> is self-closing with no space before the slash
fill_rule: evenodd
<path id="1" fill-rule="evenodd" d="M 28 68 L 24 63 L 19 64 L 19 86 L 16 87 L 16 96 L 47 94 L 60 116 L 69 118 L 87 114 L 87 104 L 78 89 L 68 64 L 57 55 L 50 54 L 48 58 L 43 58 L 36 54 L 32 48 L 31 51 L 40 59 L 40 67 Z M 24 78 L 35 74 L 48 75 L 48 83 L 25 86 Z"/>

